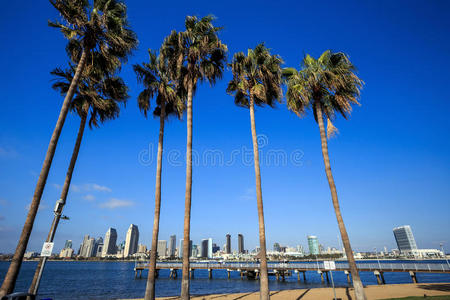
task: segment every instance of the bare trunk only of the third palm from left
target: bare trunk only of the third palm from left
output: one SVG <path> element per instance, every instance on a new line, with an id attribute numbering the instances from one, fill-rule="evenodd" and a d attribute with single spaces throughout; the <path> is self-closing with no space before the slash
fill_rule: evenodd
<path id="1" fill-rule="evenodd" d="M 165 114 L 166 114 L 166 103 L 163 99 L 161 100 L 161 115 L 159 116 L 158 161 L 156 164 L 155 216 L 153 217 L 152 250 L 150 252 L 150 265 L 147 277 L 147 288 L 145 290 L 145 300 L 155 299 L 156 254 L 158 250 L 157 246 L 159 234 L 159 215 L 161 209 L 161 171 L 162 171 Z"/>

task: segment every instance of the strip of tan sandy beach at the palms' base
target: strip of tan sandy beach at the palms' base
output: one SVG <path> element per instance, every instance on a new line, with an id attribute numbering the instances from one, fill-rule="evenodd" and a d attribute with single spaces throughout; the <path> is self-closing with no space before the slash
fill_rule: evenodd
<path id="1" fill-rule="evenodd" d="M 449 296 L 450 283 L 408 283 L 408 284 L 386 284 L 369 285 L 364 288 L 368 300 L 402 298 L 409 296 Z M 273 300 L 317 300 L 333 299 L 332 288 L 312 288 L 271 291 L 270 298 Z M 336 288 L 336 297 L 342 300 L 355 299 L 353 288 Z M 175 300 L 179 296 L 158 297 L 158 300 Z M 198 300 L 258 300 L 259 291 L 248 293 L 233 294 L 211 294 L 211 295 L 191 295 L 191 299 Z M 142 300 L 140 299 L 122 299 L 122 300 Z"/>

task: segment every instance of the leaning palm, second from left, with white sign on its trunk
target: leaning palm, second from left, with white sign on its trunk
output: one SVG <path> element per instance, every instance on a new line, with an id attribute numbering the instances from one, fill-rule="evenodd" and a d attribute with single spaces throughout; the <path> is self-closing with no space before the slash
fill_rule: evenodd
<path id="1" fill-rule="evenodd" d="M 87 71 L 87 69 L 85 70 Z M 101 123 L 106 120 L 115 119 L 119 116 L 119 104 L 125 104 L 128 96 L 128 88 L 120 77 L 117 76 L 101 76 L 98 77 L 83 72 L 82 78 L 78 84 L 75 97 L 71 102 L 70 109 L 78 114 L 80 117 L 80 127 L 75 142 L 75 147 L 72 152 L 69 168 L 67 169 L 66 179 L 61 191 L 60 205 L 55 212 L 47 242 L 52 242 L 59 221 L 61 219 L 64 205 L 66 204 L 67 194 L 72 180 L 72 174 L 75 168 L 75 163 L 80 151 L 81 141 L 84 134 L 84 129 L 89 116 L 89 127 L 99 127 Z M 55 69 L 51 72 L 52 75 L 58 77 L 58 80 L 53 84 L 53 88 L 59 90 L 62 95 L 67 93 L 70 88 L 70 83 L 74 76 L 74 68 L 67 70 Z M 101 74 L 101 72 L 96 72 Z M 41 258 L 36 268 L 33 281 L 30 285 L 29 292 L 36 294 L 39 288 L 39 273 L 44 269 L 46 258 Z"/>

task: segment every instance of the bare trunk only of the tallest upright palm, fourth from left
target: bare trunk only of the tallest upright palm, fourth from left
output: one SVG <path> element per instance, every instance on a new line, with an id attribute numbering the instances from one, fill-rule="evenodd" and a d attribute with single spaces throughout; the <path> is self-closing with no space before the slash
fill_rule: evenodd
<path id="1" fill-rule="evenodd" d="M 189 82 L 187 99 L 186 194 L 184 204 L 183 277 L 181 281 L 181 300 L 189 299 L 189 242 L 191 239 L 192 194 L 192 90 L 193 82 Z"/>

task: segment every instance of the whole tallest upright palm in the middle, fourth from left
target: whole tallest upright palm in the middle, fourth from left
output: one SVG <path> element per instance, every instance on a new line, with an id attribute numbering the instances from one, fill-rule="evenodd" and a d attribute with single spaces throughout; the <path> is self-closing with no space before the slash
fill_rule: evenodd
<path id="1" fill-rule="evenodd" d="M 192 100 L 198 81 L 211 85 L 222 78 L 226 63 L 227 46 L 218 36 L 221 30 L 212 22 L 213 16 L 201 19 L 187 16 L 186 30 L 172 31 L 166 38 L 161 54 L 169 58 L 169 68 L 177 76 L 177 84 L 187 91 L 187 143 L 186 143 L 186 193 L 183 232 L 183 276 L 181 299 L 189 299 L 189 241 L 192 191 Z"/>

